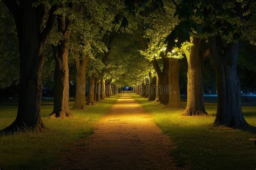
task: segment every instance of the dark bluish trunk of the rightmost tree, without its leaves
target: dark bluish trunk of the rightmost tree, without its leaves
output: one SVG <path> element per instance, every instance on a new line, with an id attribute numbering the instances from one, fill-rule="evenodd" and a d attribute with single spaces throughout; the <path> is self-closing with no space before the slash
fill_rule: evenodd
<path id="1" fill-rule="evenodd" d="M 217 46 L 215 37 L 208 39 L 218 90 L 218 107 L 214 125 L 255 131 L 256 128 L 248 125 L 242 114 L 240 81 L 237 76 L 239 43 L 228 44 L 223 55 L 219 52 L 221 51 L 219 45 L 221 40 Z"/>

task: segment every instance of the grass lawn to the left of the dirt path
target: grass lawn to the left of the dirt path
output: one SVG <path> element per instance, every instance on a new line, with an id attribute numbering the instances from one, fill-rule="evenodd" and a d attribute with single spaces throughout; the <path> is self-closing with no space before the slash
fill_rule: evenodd
<path id="1" fill-rule="evenodd" d="M 47 169 L 58 160 L 61 151 L 69 144 L 85 139 L 93 133 L 93 125 L 110 110 L 118 96 L 106 98 L 96 106 L 87 106 L 86 111 L 71 111 L 73 117 L 48 118 L 52 101 L 43 101 L 42 120 L 48 130 L 41 133 L 19 133 L 0 138 L 0 169 Z M 71 105 L 72 106 L 72 102 Z M 0 105 L 0 129 L 15 120 L 17 103 L 8 101 Z M 79 145 L 86 145 L 85 142 Z"/>

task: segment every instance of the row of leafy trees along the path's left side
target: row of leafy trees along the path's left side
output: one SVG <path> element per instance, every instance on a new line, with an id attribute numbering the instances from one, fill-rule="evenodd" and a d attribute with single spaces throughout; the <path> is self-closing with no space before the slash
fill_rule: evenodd
<path id="1" fill-rule="evenodd" d="M 72 108 L 85 110 L 86 104 L 95 105 L 96 101 L 116 93 L 117 85 L 124 84 L 124 75 L 136 72 L 137 77 L 142 77 L 143 69 L 149 65 L 144 58 L 134 64 L 139 55 L 134 47 L 139 47 L 139 41 L 136 36 L 127 35 L 136 27 L 127 22 L 130 13 L 124 2 L 30 0 L 1 3 L 5 4 L 1 5 L 1 24 L 6 28 L 2 31 L 3 37 L 10 32 L 14 38 L 11 41 L 14 48 L 2 51 L 7 51 L 6 56 L 11 56 L 12 60 L 19 60 L 17 64 L 8 63 L 19 67 L 11 71 L 15 76 L 19 74 L 19 78 L 12 76 L 12 80 L 3 85 L 18 84 L 17 117 L 14 123 L 0 131 L 2 134 L 43 130 L 40 110 L 43 83 L 53 82 L 54 106 L 50 116 L 70 117 L 71 79 L 76 84 Z M 14 29 L 8 30 L 10 25 Z M 9 54 L 10 51 L 19 54 L 19 59 Z M 118 59 L 118 55 L 123 56 Z M 70 69 L 75 72 L 71 78 Z M 87 99 L 85 89 L 89 90 Z"/>

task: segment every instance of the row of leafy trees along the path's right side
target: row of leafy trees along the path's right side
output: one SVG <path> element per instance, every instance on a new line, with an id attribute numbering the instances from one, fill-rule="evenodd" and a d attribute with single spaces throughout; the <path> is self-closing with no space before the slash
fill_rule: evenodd
<path id="1" fill-rule="evenodd" d="M 144 51 L 157 73 L 159 100 L 169 108 L 180 108 L 179 59 L 187 59 L 187 106 L 183 115 L 207 114 L 203 101 L 203 63 L 210 57 L 217 79 L 218 108 L 214 125 L 255 130 L 241 110 L 237 63 L 242 41 L 255 45 L 248 31 L 255 33 L 252 1 L 147 1 L 131 6 L 140 13 Z M 151 3 L 150 3 L 151 2 Z M 153 11 L 153 12 L 152 12 Z M 174 16 L 174 17 L 173 17 Z M 145 26 L 146 25 L 146 26 Z M 146 29 L 145 29 L 146 28 Z M 159 60 L 161 60 L 161 67 Z M 149 84 L 145 84 L 147 97 Z M 157 88 L 159 91 L 159 88 Z M 141 86 L 136 87 L 141 93 Z M 151 92 L 151 91 L 149 91 Z"/>

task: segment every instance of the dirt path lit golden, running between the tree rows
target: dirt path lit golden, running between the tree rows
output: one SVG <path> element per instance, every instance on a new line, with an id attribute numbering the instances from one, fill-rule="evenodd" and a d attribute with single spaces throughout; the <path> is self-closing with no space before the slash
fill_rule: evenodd
<path id="1" fill-rule="evenodd" d="M 176 169 L 169 156 L 169 137 L 130 94 L 122 94 L 98 121 L 87 144 L 63 153 L 59 168 Z"/>

